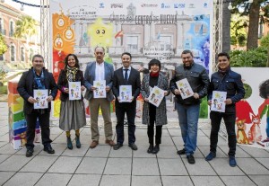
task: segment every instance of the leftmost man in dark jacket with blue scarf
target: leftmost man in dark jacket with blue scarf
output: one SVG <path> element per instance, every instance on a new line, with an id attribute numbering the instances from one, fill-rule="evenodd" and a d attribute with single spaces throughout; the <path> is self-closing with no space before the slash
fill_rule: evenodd
<path id="1" fill-rule="evenodd" d="M 32 58 L 32 67 L 29 71 L 22 74 L 22 77 L 18 84 L 18 92 L 24 100 L 23 111 L 25 120 L 27 121 L 27 143 L 26 143 L 26 156 L 30 157 L 33 154 L 33 141 L 35 137 L 35 128 L 37 119 L 41 128 L 42 144 L 44 151 L 48 154 L 54 154 L 54 149 L 50 146 L 52 142 L 49 138 L 49 114 L 50 114 L 50 102 L 56 97 L 57 86 L 51 73 L 45 69 L 44 58 L 40 55 L 35 55 Z M 48 90 L 48 109 L 34 109 L 33 104 L 38 102 L 33 97 L 34 89 L 47 89 Z"/>

